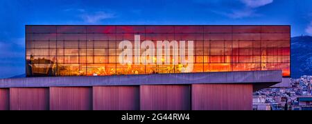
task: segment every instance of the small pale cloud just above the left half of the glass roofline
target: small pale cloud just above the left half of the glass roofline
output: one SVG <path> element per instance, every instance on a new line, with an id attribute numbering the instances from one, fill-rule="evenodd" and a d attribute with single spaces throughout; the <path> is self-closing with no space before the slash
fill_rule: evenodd
<path id="1" fill-rule="evenodd" d="M 94 12 L 94 13 L 83 13 L 80 17 L 85 21 L 85 23 L 101 23 L 104 19 L 114 18 L 114 14 L 107 12 Z"/>

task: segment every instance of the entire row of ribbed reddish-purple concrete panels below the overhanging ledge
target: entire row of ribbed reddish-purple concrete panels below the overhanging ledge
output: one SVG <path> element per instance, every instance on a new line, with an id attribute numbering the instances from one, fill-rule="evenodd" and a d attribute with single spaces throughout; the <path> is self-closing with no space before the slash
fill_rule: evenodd
<path id="1" fill-rule="evenodd" d="M 8 88 L 0 110 L 252 110 L 252 84 Z"/>

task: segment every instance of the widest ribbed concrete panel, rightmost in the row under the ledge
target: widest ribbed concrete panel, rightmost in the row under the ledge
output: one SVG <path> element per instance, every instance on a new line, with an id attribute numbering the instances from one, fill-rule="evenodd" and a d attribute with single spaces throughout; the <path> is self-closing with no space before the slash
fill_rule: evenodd
<path id="1" fill-rule="evenodd" d="M 252 84 L 193 84 L 192 110 L 252 110 Z"/>

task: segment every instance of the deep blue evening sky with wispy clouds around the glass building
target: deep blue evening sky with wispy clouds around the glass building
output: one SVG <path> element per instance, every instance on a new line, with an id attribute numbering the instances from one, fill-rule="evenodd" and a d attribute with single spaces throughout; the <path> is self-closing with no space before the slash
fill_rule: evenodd
<path id="1" fill-rule="evenodd" d="M 311 0 L 1 0 L 0 17 L 0 78 L 25 73 L 25 25 L 276 24 L 312 35 Z"/>

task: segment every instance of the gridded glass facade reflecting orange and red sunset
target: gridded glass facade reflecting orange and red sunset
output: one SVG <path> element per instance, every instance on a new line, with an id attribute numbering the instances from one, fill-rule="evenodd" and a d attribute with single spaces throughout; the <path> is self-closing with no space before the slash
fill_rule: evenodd
<path id="1" fill-rule="evenodd" d="M 140 42 L 193 41 L 191 72 L 283 70 L 290 76 L 290 26 L 281 25 L 27 25 L 27 76 L 105 76 L 118 74 L 181 73 L 180 56 L 171 49 L 170 64 L 120 61 L 122 41 L 133 53 L 144 53 Z M 174 48 L 176 45 L 172 45 Z M 180 49 L 177 47 L 178 50 Z M 149 48 L 157 53 L 157 48 Z M 157 61 L 153 58 L 153 61 Z M 162 60 L 164 61 L 164 60 Z"/>

